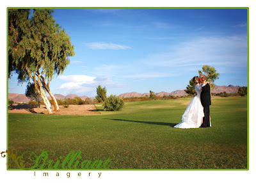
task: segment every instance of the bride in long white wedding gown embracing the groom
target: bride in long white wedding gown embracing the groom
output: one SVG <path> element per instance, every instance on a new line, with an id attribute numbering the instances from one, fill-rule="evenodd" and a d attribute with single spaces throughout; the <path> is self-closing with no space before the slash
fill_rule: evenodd
<path id="1" fill-rule="evenodd" d="M 202 125 L 204 118 L 204 107 L 200 99 L 202 86 L 196 84 L 195 91 L 197 95 L 189 102 L 186 111 L 182 115 L 182 122 L 175 125 L 175 128 L 190 129 L 198 128 Z"/>

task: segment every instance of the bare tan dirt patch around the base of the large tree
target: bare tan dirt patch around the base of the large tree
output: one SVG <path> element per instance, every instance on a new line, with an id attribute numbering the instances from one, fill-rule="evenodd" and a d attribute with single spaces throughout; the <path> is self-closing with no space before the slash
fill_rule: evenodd
<path id="1" fill-rule="evenodd" d="M 54 111 L 53 115 L 100 115 L 97 111 L 95 105 L 69 105 L 68 108 L 59 106 L 59 111 Z M 54 106 L 52 106 L 54 110 Z M 8 113 L 41 113 L 48 114 L 47 109 L 44 105 L 38 107 L 37 105 L 19 105 L 19 106 L 9 106 Z"/>

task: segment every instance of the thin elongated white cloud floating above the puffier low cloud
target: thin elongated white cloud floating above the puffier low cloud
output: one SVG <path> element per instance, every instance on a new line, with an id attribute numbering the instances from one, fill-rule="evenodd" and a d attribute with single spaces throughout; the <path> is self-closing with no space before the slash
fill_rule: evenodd
<path id="1" fill-rule="evenodd" d="M 84 45 L 86 45 L 90 49 L 114 49 L 114 50 L 131 49 L 131 47 L 126 45 L 118 45 L 118 44 L 105 43 L 105 42 L 90 42 L 90 43 L 85 43 Z"/>

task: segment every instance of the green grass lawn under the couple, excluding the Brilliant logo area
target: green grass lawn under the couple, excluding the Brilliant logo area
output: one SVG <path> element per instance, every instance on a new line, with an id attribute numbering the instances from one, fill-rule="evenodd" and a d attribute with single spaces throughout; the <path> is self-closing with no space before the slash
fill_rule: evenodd
<path id="1" fill-rule="evenodd" d="M 174 128 L 190 100 L 97 105 L 97 116 L 9 114 L 8 148 L 52 150 L 55 161 L 81 150 L 82 160 L 111 157 L 111 169 L 247 169 L 247 98 L 212 98 L 210 128 Z"/>

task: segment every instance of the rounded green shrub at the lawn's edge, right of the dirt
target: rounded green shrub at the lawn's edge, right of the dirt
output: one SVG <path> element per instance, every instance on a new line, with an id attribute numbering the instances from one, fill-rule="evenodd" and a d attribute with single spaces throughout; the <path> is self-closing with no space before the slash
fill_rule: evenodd
<path id="1" fill-rule="evenodd" d="M 124 107 L 124 100 L 121 97 L 116 97 L 116 95 L 110 95 L 103 106 L 109 111 L 118 111 Z"/>

